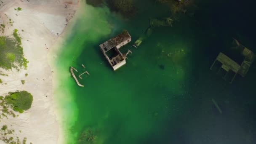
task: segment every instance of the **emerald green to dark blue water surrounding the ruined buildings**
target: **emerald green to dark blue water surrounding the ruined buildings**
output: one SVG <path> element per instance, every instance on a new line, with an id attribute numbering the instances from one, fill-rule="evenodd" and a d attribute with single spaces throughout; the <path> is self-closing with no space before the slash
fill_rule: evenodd
<path id="1" fill-rule="evenodd" d="M 147 5 L 145 4 L 147 3 Z M 67 143 L 91 130 L 96 144 L 254 144 L 256 143 L 253 64 L 246 77 L 229 84 L 209 68 L 219 52 L 230 51 L 232 37 L 256 52 L 255 11 L 250 1 L 197 2 L 173 27 L 160 27 L 114 72 L 99 44 L 127 29 L 132 43 L 149 18 L 170 16 L 165 5 L 137 2 L 138 14 L 124 19 L 107 8 L 85 5 L 56 62 L 90 76 L 76 85 L 60 76 L 59 91 Z M 192 14 L 193 13 L 193 14 Z M 70 60 L 72 58 L 72 60 Z M 218 112 L 211 99 L 219 104 Z M 64 101 L 64 100 L 63 100 Z"/>

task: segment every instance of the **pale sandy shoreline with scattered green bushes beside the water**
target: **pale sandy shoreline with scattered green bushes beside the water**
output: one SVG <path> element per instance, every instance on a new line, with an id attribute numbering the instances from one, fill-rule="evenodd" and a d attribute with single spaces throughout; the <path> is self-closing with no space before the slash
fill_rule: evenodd
<path id="1" fill-rule="evenodd" d="M 61 41 L 62 33 L 74 17 L 78 5 L 79 0 L 3 0 L 0 23 L 5 24 L 5 31 L 0 35 L 11 35 L 14 29 L 18 29 L 24 56 L 29 64 L 27 69 L 20 72 L 0 68 L 2 73 L 8 75 L 0 76 L 3 83 L 6 83 L 0 85 L 0 95 L 24 90 L 34 98 L 28 111 L 15 113 L 19 117 L 9 116 L 0 121 L 0 127 L 8 125 L 8 128 L 15 130 L 8 136 L 19 137 L 21 140 L 26 137 L 27 143 L 33 144 L 62 144 L 61 124 L 58 120 L 60 116 L 53 101 L 53 70 L 48 58 L 56 52 L 52 50 L 53 45 Z M 22 10 L 15 11 L 17 7 Z M 8 24 L 9 19 L 14 21 L 13 26 Z M 24 85 L 21 80 L 25 80 Z"/>

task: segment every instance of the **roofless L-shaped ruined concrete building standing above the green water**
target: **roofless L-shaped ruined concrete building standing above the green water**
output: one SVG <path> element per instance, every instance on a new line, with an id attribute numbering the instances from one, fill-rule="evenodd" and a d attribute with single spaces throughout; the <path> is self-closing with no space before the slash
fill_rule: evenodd
<path id="1" fill-rule="evenodd" d="M 131 42 L 131 35 L 127 31 L 123 31 L 116 37 L 99 45 L 111 67 L 116 70 L 125 65 L 126 56 L 124 56 L 119 48 Z"/>

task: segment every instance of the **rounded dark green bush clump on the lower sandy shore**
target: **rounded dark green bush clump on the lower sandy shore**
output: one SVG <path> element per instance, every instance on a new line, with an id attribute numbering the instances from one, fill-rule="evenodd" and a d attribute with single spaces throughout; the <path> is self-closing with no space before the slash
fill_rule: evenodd
<path id="1" fill-rule="evenodd" d="M 10 104 L 14 111 L 22 113 L 31 107 L 33 96 L 27 91 L 9 92 L 5 96 L 6 104 Z"/>

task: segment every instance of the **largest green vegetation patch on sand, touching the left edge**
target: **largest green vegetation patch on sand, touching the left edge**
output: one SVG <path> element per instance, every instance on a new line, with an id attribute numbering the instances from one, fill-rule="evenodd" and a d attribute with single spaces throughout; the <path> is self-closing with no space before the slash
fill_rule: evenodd
<path id="1" fill-rule="evenodd" d="M 27 59 L 24 58 L 23 48 L 21 47 L 21 37 L 18 29 L 14 29 L 13 37 L 0 37 L 0 67 L 9 69 L 27 68 Z"/>

